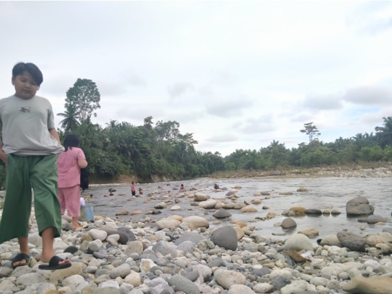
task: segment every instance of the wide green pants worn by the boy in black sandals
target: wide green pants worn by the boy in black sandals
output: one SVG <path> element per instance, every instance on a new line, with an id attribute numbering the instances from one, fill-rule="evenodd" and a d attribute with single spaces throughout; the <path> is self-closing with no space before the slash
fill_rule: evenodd
<path id="1" fill-rule="evenodd" d="M 57 198 L 58 154 L 18 156 L 7 155 L 5 201 L 0 222 L 0 244 L 29 236 L 31 188 L 40 235 L 54 227 L 54 237 L 61 232 L 61 207 Z"/>

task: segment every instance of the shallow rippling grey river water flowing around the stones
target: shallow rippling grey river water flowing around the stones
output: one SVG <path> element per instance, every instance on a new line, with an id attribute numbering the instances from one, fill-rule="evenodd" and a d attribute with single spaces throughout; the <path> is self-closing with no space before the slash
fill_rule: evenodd
<path id="1" fill-rule="evenodd" d="M 390 218 L 392 211 L 392 178 L 338 178 L 338 177 L 324 177 L 324 178 L 236 178 L 236 179 L 210 179 L 210 178 L 198 178 L 186 181 L 170 181 L 164 183 L 152 183 L 152 184 L 136 184 L 136 190 L 139 187 L 143 189 L 143 196 L 138 198 L 132 198 L 130 185 L 99 185 L 91 186 L 90 189 L 86 190 L 84 194 L 93 194 L 91 203 L 94 206 L 94 213 L 96 215 L 109 216 L 111 218 L 118 218 L 124 222 L 126 221 L 137 221 L 145 217 L 151 217 L 156 220 L 177 214 L 180 216 L 191 216 L 199 215 L 206 218 L 210 224 L 216 220 L 212 216 L 214 210 L 200 209 L 198 206 L 191 206 L 193 198 L 180 198 L 182 210 L 170 211 L 170 207 L 175 205 L 168 205 L 166 209 L 162 209 L 161 214 L 139 214 L 134 216 L 115 216 L 116 212 L 122 210 L 134 211 L 142 210 L 147 211 L 153 209 L 154 205 L 162 201 L 171 199 L 174 202 L 174 197 L 169 199 L 157 199 L 152 200 L 149 203 L 145 203 L 149 200 L 147 194 L 153 191 L 159 191 L 160 195 L 173 195 L 176 196 L 178 190 L 173 190 L 174 187 L 178 188 L 183 183 L 185 188 L 191 188 L 193 186 L 198 187 L 200 192 L 208 194 L 211 198 L 224 198 L 228 191 L 214 192 L 214 183 L 218 183 L 220 187 L 227 187 L 230 191 L 231 187 L 240 185 L 242 189 L 238 189 L 237 194 L 241 196 L 237 201 L 251 201 L 256 198 L 263 199 L 259 205 L 254 205 L 258 212 L 240 212 L 238 210 L 229 210 L 232 214 L 229 220 L 222 220 L 223 224 L 230 224 L 230 220 L 241 220 L 251 221 L 250 225 L 256 227 L 256 233 L 270 237 L 272 234 L 285 234 L 290 235 L 296 233 L 299 229 L 305 229 L 308 227 L 314 227 L 319 230 L 319 236 L 325 236 L 327 234 L 336 234 L 341 230 L 347 229 L 350 232 L 358 234 L 367 234 L 369 232 L 381 232 L 385 225 L 368 225 L 367 223 L 359 223 L 358 218 L 349 218 L 346 215 L 346 203 L 350 199 L 356 196 L 365 196 L 368 198 L 371 205 L 374 206 L 374 214 L 381 215 L 383 217 Z M 158 189 L 161 186 L 162 189 Z M 109 187 L 116 189 L 114 196 L 103 197 L 108 195 Z M 299 187 L 306 187 L 308 192 L 296 192 Z M 270 196 L 253 196 L 255 192 L 269 191 Z M 191 191 L 192 193 L 195 191 Z M 293 192 L 292 195 L 279 195 L 279 192 Z M 123 196 L 118 194 L 125 193 Z M 265 199 L 265 197 L 270 197 Z M 263 210 L 263 205 L 269 206 L 269 209 Z M 285 219 L 285 216 L 281 216 L 283 210 L 289 209 L 293 206 L 303 206 L 307 209 L 318 208 L 324 209 L 337 209 L 342 213 L 338 216 L 301 216 L 292 217 L 297 227 L 294 230 L 284 230 L 281 227 L 274 227 L 274 224 Z M 268 212 L 275 212 L 276 218 L 262 221 L 255 220 L 258 216 L 265 216 Z M 387 226 L 392 225 L 389 221 Z M 221 225 L 212 225 L 212 227 L 218 227 Z M 363 226 L 366 229 L 361 230 Z M 274 236 L 274 238 L 284 239 L 285 237 Z"/>

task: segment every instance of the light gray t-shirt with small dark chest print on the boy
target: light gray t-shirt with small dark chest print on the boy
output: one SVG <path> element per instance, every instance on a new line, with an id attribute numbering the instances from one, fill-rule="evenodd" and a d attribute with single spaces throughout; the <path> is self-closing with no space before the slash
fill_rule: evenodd
<path id="1" fill-rule="evenodd" d="M 6 154 L 48 155 L 64 151 L 50 133 L 54 129 L 51 103 L 43 97 L 0 100 L 0 129 Z"/>

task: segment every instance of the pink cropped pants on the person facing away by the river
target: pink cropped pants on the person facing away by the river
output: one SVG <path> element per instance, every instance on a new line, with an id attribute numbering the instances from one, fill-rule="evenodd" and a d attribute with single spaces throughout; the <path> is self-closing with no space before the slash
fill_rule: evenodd
<path id="1" fill-rule="evenodd" d="M 58 200 L 61 205 L 61 214 L 67 208 L 68 215 L 72 218 L 80 216 L 80 185 L 67 188 L 58 188 Z"/>

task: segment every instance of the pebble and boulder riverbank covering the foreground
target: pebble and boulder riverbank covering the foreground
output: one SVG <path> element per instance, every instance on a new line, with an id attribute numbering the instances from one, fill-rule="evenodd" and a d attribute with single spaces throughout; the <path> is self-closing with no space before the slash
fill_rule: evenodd
<path id="1" fill-rule="evenodd" d="M 317 228 L 309 228 L 289 236 L 263 236 L 252 222 L 230 218 L 226 204 L 241 203 L 244 213 L 251 213 L 255 205 L 238 201 L 236 191 L 241 187 L 229 187 L 225 199 L 217 200 L 198 187 L 170 195 L 160 195 L 158 189 L 143 197 L 160 195 L 160 206 L 154 205 L 151 212 L 167 209 L 169 214 L 143 211 L 131 221 L 95 215 L 80 231 L 72 231 L 71 220 L 63 216 L 62 236 L 56 238 L 54 248 L 72 266 L 54 271 L 38 269 L 42 241 L 33 211 L 29 265 L 13 270 L 10 260 L 19 252 L 18 243 L 0 244 L 0 293 L 392 293 L 390 218 L 377 211 L 358 216 L 379 225 L 377 233 L 365 228 L 357 234 L 348 227 L 318 235 Z M 214 214 L 214 220 L 192 213 L 184 216 L 173 209 L 184 198 L 191 200 L 190 207 Z M 284 216 L 277 225 L 295 228 L 298 215 L 316 213 L 300 204 L 275 211 Z M 370 204 L 358 197 L 351 209 L 353 213 L 371 209 Z"/>

